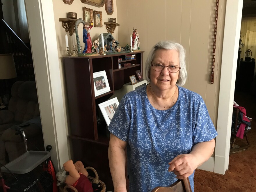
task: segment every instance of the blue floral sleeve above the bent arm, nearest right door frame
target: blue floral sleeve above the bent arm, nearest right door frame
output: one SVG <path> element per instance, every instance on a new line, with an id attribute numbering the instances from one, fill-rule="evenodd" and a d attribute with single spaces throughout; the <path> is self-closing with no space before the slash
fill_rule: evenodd
<path id="1" fill-rule="evenodd" d="M 201 96 L 195 113 L 195 127 L 193 130 L 194 145 L 200 142 L 210 141 L 218 135 Z"/>

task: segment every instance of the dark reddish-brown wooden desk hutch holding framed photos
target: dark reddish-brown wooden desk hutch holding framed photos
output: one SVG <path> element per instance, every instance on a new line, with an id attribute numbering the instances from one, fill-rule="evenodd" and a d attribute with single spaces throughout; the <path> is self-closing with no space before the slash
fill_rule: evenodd
<path id="1" fill-rule="evenodd" d="M 136 76 L 136 70 L 143 73 L 143 53 L 63 57 L 72 159 L 82 161 L 85 167 L 95 168 L 99 179 L 106 184 L 106 191 L 113 191 L 108 160 L 109 136 L 104 118 L 97 122 L 101 113 L 98 104 L 108 100 L 123 84 L 129 83 L 129 76 Z M 125 60 L 127 54 L 135 54 L 135 58 Z M 118 64 L 123 62 L 135 65 L 118 69 Z M 110 91 L 95 97 L 93 73 L 99 71 L 106 71 Z"/>

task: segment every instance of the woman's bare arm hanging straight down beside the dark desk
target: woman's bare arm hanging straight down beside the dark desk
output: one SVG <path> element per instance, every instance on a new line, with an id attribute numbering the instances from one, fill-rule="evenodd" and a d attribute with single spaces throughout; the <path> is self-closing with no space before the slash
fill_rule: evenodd
<path id="1" fill-rule="evenodd" d="M 110 134 L 109 141 L 109 168 L 114 184 L 115 192 L 126 192 L 125 179 L 125 149 L 126 141 L 120 140 L 118 137 Z"/>

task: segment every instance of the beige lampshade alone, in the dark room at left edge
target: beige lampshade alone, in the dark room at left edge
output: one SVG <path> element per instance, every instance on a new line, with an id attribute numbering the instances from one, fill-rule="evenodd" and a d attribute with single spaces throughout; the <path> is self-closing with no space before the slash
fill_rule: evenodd
<path id="1" fill-rule="evenodd" d="M 12 54 L 0 54 L 0 79 L 17 77 Z"/>

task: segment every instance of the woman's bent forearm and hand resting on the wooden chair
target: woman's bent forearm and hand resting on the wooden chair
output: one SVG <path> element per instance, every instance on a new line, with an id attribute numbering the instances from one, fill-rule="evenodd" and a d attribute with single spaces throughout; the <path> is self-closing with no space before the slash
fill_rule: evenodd
<path id="1" fill-rule="evenodd" d="M 207 161 L 213 154 L 215 140 L 197 143 L 189 154 L 181 154 L 169 162 L 168 171 L 177 175 L 177 179 L 189 177 L 194 170 Z"/>

